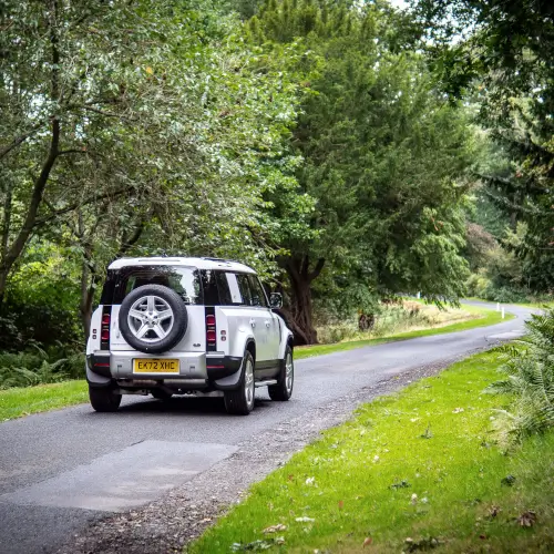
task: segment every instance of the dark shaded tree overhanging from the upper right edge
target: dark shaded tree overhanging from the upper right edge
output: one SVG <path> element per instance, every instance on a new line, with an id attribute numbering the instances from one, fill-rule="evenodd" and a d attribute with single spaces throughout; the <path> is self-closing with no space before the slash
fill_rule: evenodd
<path id="1" fill-rule="evenodd" d="M 514 249 L 523 260 L 524 280 L 535 291 L 552 290 L 552 2 L 420 0 L 414 10 L 433 38 L 427 48 L 444 90 L 456 99 L 475 94 L 480 123 L 506 154 L 507 172 L 485 172 L 481 178 L 512 229 L 517 222 L 525 224 Z"/>

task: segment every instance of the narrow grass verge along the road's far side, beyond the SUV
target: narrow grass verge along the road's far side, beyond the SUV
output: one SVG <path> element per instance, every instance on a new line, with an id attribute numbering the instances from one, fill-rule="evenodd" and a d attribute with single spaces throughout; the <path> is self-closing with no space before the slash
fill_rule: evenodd
<path id="1" fill-rule="evenodd" d="M 348 342 L 336 342 L 334 345 L 315 345 L 309 347 L 300 347 L 295 349 L 295 359 L 311 358 L 314 356 L 321 356 L 324 353 L 341 352 L 345 350 L 352 350 L 353 348 L 361 348 L 366 346 L 382 345 L 383 342 L 392 342 L 396 340 L 413 339 L 417 337 L 427 337 L 430 335 L 442 335 L 444 332 L 465 331 L 476 327 L 486 327 L 490 325 L 501 324 L 513 319 L 512 314 L 505 314 L 505 319 L 502 319 L 502 314 L 499 311 L 481 308 L 479 306 L 462 306 L 462 309 L 470 314 L 479 314 L 479 318 L 459 321 L 456 324 L 445 325 L 443 327 L 433 327 L 430 329 L 419 329 L 417 331 L 401 332 L 389 337 L 380 337 L 368 340 L 352 340 Z"/>

